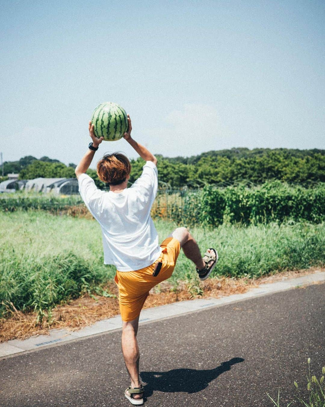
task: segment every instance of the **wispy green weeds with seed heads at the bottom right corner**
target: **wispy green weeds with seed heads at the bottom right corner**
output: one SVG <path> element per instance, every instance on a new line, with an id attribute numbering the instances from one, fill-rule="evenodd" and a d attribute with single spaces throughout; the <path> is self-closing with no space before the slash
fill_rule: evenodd
<path id="1" fill-rule="evenodd" d="M 315 375 L 310 374 L 310 357 L 308 358 L 307 362 L 308 362 L 308 376 L 306 377 L 309 400 L 307 402 L 303 400 L 303 398 L 301 397 L 301 393 L 299 391 L 298 383 L 294 381 L 293 383 L 299 393 L 299 396 L 297 396 L 297 400 L 301 403 L 301 405 L 305 407 L 325 407 L 325 382 L 324 382 L 325 366 L 323 366 L 322 376 L 318 380 Z M 272 400 L 275 406 L 280 407 L 280 389 L 277 395 L 277 401 L 273 400 L 273 398 L 268 393 L 267 396 Z M 293 403 L 293 401 L 291 403 Z M 289 403 L 287 407 L 291 403 Z"/>

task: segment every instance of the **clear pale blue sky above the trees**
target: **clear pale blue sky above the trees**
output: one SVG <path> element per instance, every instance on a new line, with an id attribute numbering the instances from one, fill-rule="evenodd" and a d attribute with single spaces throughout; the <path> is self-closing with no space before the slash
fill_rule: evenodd
<path id="1" fill-rule="evenodd" d="M 323 1 L 0 4 L 6 161 L 78 163 L 104 101 L 165 156 L 325 148 Z M 106 151 L 136 157 L 125 140 L 103 142 L 96 158 Z"/>

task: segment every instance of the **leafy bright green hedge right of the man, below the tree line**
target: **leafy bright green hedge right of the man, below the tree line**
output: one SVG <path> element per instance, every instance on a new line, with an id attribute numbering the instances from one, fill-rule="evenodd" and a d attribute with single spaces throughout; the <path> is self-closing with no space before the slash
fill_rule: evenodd
<path id="1" fill-rule="evenodd" d="M 158 197 L 159 200 L 159 197 Z M 289 186 L 280 181 L 266 182 L 258 187 L 244 185 L 215 188 L 205 186 L 188 192 L 182 204 L 169 199 L 168 217 L 186 225 L 216 226 L 226 223 L 281 223 L 284 220 L 325 220 L 325 184 L 314 188 Z M 161 214 L 161 206 L 157 215 Z M 155 215 L 155 214 L 154 214 Z"/>

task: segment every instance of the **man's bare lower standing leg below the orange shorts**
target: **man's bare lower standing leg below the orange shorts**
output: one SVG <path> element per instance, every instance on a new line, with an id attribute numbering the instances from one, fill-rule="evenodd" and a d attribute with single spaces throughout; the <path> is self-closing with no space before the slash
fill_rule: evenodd
<path id="1" fill-rule="evenodd" d="M 122 325 L 122 352 L 131 379 L 131 387 L 141 387 L 139 377 L 139 348 L 137 342 L 137 332 L 139 317 L 133 321 L 124 322 Z M 130 394 L 129 394 L 130 396 Z M 133 394 L 134 399 L 143 398 L 143 393 Z"/>

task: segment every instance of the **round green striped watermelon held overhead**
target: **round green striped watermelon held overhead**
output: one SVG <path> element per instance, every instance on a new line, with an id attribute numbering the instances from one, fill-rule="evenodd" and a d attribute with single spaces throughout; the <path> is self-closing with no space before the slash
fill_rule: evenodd
<path id="1" fill-rule="evenodd" d="M 96 137 L 115 141 L 122 138 L 128 130 L 128 117 L 123 107 L 113 102 L 104 102 L 93 111 L 91 124 L 94 125 Z"/>

